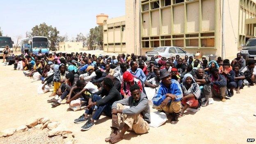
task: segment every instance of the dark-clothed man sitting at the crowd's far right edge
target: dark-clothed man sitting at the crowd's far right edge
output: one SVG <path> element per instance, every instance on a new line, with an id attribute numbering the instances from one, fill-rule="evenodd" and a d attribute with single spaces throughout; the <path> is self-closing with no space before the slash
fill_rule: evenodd
<path id="1" fill-rule="evenodd" d="M 256 75 L 256 66 L 254 60 L 249 60 L 248 65 L 242 69 L 242 73 L 245 74 L 245 79 L 251 84 L 254 85 L 255 75 Z"/>

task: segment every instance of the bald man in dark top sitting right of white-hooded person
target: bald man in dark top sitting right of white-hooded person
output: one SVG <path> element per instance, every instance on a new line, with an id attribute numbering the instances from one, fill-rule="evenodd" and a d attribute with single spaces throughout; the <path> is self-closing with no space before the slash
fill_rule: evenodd
<path id="1" fill-rule="evenodd" d="M 204 73 L 203 68 L 199 68 L 196 71 L 196 75 L 194 75 L 194 80 L 197 82 L 197 84 L 202 87 L 201 90 L 203 90 L 202 97 L 205 97 L 205 101 L 202 103 L 202 107 L 205 107 L 209 105 L 209 98 L 212 98 L 212 91 L 211 91 L 211 78 L 209 75 Z"/>

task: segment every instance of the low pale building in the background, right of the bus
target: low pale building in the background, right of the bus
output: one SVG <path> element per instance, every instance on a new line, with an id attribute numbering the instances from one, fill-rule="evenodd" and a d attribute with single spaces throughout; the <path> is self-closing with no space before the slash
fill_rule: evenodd
<path id="1" fill-rule="evenodd" d="M 61 42 L 59 43 L 59 51 L 77 52 L 83 50 L 82 42 Z"/>

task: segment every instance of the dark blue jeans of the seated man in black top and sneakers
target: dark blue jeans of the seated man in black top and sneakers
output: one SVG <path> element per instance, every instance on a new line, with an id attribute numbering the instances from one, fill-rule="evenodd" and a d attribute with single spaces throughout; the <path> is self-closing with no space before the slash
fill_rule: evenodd
<path id="1" fill-rule="evenodd" d="M 100 99 L 101 99 L 101 96 L 98 96 L 98 95 L 95 94 L 92 98 L 92 102 L 96 102 Z M 108 102 L 105 105 L 99 105 L 97 110 L 95 111 L 94 115 L 92 116 L 92 119 L 98 120 L 101 117 L 102 112 L 104 112 L 107 116 L 112 117 L 112 113 L 111 113 L 112 104 L 113 103 Z M 94 107 L 95 106 L 91 107 L 89 110 L 86 109 L 85 113 L 86 114 L 92 114 L 92 112 L 94 110 Z"/>

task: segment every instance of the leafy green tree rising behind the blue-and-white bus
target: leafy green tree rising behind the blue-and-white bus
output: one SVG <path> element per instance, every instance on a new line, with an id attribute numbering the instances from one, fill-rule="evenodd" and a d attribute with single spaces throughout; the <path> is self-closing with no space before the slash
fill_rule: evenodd
<path id="1" fill-rule="evenodd" d="M 52 25 L 48 26 L 46 23 L 41 23 L 40 25 L 34 26 L 31 30 L 31 32 L 26 32 L 26 37 L 48 37 L 48 39 L 51 41 L 51 48 L 54 48 L 55 44 L 58 43 L 59 31 Z"/>

